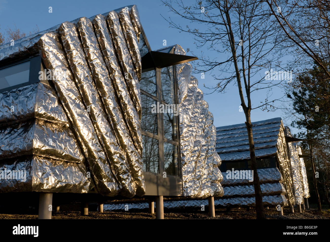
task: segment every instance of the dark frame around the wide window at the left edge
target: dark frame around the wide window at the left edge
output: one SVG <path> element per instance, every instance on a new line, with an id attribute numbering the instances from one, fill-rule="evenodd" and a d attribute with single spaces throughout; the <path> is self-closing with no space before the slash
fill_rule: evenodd
<path id="1" fill-rule="evenodd" d="M 24 83 L 20 83 L 14 86 L 9 86 L 9 87 L 5 87 L 0 89 L 0 93 L 1 92 L 5 92 L 5 91 L 9 91 L 9 90 L 13 90 L 19 87 L 23 87 L 23 86 L 28 86 L 34 83 L 38 83 L 41 82 L 42 80 L 39 80 L 39 72 L 42 70 L 42 63 L 41 63 L 41 56 L 37 55 L 37 56 L 33 56 L 33 57 L 28 57 L 28 58 L 23 58 L 23 59 L 19 59 L 16 61 L 12 61 L 8 64 L 5 65 L 1 65 L 0 66 L 0 71 L 9 67 L 13 67 L 16 66 L 18 64 L 22 64 L 24 62 L 30 61 L 30 69 L 29 69 L 29 81 L 28 82 L 24 82 Z"/>

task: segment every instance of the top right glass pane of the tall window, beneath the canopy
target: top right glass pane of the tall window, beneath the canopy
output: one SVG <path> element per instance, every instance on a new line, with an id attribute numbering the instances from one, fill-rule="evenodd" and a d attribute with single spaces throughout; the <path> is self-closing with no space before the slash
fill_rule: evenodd
<path id="1" fill-rule="evenodd" d="M 175 104 L 175 85 L 173 66 L 161 69 L 162 98 L 168 104 Z"/>

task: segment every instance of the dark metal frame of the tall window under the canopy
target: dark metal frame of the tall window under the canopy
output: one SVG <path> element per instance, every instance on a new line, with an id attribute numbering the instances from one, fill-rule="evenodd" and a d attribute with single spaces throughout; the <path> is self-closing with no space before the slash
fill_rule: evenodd
<path id="1" fill-rule="evenodd" d="M 178 104 L 178 88 L 177 88 L 177 78 L 175 75 L 175 65 L 173 66 L 169 66 L 173 68 L 173 75 L 174 75 L 174 87 L 175 87 L 175 104 Z M 164 67 L 164 68 L 168 68 L 168 67 Z M 156 71 L 156 97 L 153 96 L 152 94 L 140 89 L 141 94 L 145 94 L 148 97 L 154 99 L 156 102 L 158 102 L 159 104 L 166 104 L 165 101 L 162 100 L 162 89 L 161 89 L 161 69 L 162 68 L 155 68 L 154 70 Z M 150 71 L 150 70 L 145 70 Z M 144 72 L 144 70 L 142 70 L 142 72 Z M 179 110 L 178 110 L 179 112 Z M 176 119 L 176 125 L 177 125 L 177 141 L 173 141 L 170 139 L 167 139 L 164 137 L 164 125 L 163 125 L 163 114 L 162 113 L 157 113 L 157 134 L 152 134 L 148 131 L 142 130 L 141 129 L 141 133 L 142 135 L 146 135 L 149 136 L 151 138 L 155 138 L 158 140 L 158 151 L 159 151 L 159 173 L 152 173 L 152 172 L 146 172 L 143 171 L 145 174 L 149 174 L 149 175 L 156 175 L 156 176 L 161 176 L 163 177 L 163 172 L 165 171 L 165 160 L 164 160 L 164 142 L 170 143 L 172 145 L 177 145 L 178 146 L 178 162 L 179 162 L 179 176 L 175 176 L 175 175 L 168 175 L 166 173 L 166 177 L 173 177 L 173 178 L 180 178 L 182 179 L 182 169 L 181 169 L 181 147 L 180 147 L 180 126 L 179 126 L 179 115 L 174 116 Z"/>

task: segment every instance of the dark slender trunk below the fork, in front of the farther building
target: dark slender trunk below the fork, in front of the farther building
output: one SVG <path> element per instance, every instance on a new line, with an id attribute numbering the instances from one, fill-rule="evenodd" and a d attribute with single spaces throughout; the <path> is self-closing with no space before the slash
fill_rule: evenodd
<path id="1" fill-rule="evenodd" d="M 250 148 L 251 170 L 253 170 L 253 185 L 255 192 L 255 211 L 257 213 L 257 219 L 266 219 L 264 206 L 262 203 L 262 194 L 260 189 L 259 176 L 257 173 L 257 161 L 255 159 L 253 135 L 252 135 L 252 123 L 250 114 L 246 114 L 245 122 L 248 130 L 248 144 Z"/>

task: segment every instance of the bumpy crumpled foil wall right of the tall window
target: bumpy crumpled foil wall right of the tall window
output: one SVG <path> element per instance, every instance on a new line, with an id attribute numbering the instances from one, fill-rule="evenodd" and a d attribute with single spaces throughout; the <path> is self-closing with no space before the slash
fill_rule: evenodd
<path id="1" fill-rule="evenodd" d="M 185 54 L 175 46 L 176 54 Z M 191 76 L 191 65 L 175 66 L 180 113 L 183 195 L 192 198 L 222 196 L 221 160 L 215 152 L 215 127 L 198 81 Z"/>

